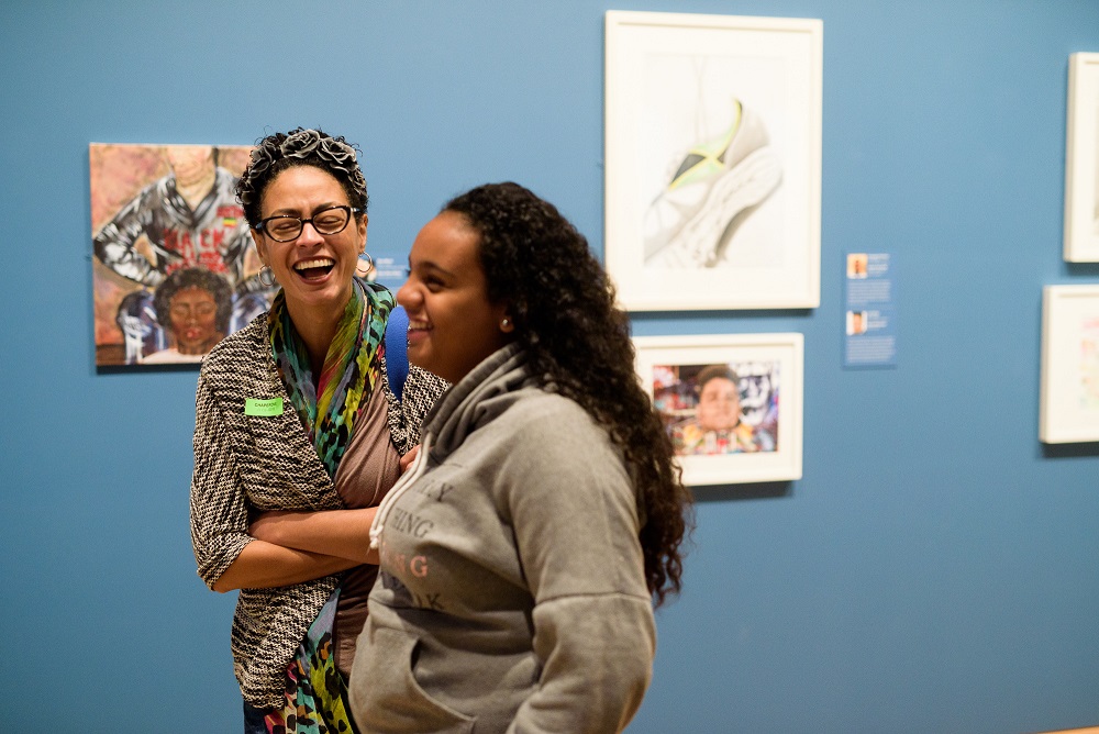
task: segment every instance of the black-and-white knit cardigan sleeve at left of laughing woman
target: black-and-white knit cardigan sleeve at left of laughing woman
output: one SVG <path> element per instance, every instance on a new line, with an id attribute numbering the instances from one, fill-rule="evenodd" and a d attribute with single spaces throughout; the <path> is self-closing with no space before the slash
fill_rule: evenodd
<path id="1" fill-rule="evenodd" d="M 202 374 L 195 398 L 190 504 L 191 546 L 198 572 L 212 589 L 253 538 L 247 533 L 248 510 L 237 476 L 236 453 L 229 441 L 221 405 Z"/>

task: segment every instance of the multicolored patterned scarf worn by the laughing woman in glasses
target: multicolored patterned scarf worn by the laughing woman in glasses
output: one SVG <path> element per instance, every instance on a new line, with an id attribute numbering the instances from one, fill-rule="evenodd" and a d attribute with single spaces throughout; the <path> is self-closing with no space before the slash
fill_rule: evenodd
<path id="1" fill-rule="evenodd" d="M 393 308 L 393 297 L 388 290 L 358 279 L 353 282 L 352 298 L 344 308 L 315 385 L 309 351 L 290 320 L 281 290 L 267 316 L 279 377 L 317 455 L 333 479 L 351 443 L 358 410 L 369 402 L 381 375 L 378 355 L 385 341 L 386 321 Z M 268 732 L 354 731 L 347 713 L 346 681 L 336 669 L 332 649 L 338 599 L 337 588 L 287 667 L 286 705 L 266 716 Z"/>

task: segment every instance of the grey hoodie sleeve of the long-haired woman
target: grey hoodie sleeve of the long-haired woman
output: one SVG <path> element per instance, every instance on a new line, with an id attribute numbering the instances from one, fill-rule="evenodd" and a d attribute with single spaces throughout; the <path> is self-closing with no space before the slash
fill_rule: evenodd
<path id="1" fill-rule="evenodd" d="M 535 605 L 537 691 L 509 732 L 620 732 L 652 677 L 656 631 L 637 503 L 606 433 L 545 411 L 508 459 L 509 511 Z"/>

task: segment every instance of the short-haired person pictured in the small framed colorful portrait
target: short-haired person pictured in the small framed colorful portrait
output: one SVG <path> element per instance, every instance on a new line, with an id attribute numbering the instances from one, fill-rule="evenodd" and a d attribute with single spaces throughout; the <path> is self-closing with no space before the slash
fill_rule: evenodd
<path id="1" fill-rule="evenodd" d="M 741 411 L 741 378 L 729 365 L 708 365 L 697 377 L 695 418 L 671 426 L 671 444 L 679 456 L 775 451 L 775 438 L 764 426 L 752 426 Z"/>

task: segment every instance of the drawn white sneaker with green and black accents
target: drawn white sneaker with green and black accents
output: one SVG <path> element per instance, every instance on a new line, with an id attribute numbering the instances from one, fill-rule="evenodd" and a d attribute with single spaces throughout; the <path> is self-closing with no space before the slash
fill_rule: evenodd
<path id="1" fill-rule="evenodd" d="M 645 214 L 645 265 L 713 267 L 734 216 L 762 203 L 782 169 L 755 112 L 733 100 L 733 122 L 719 137 L 677 156 L 668 186 Z"/>

